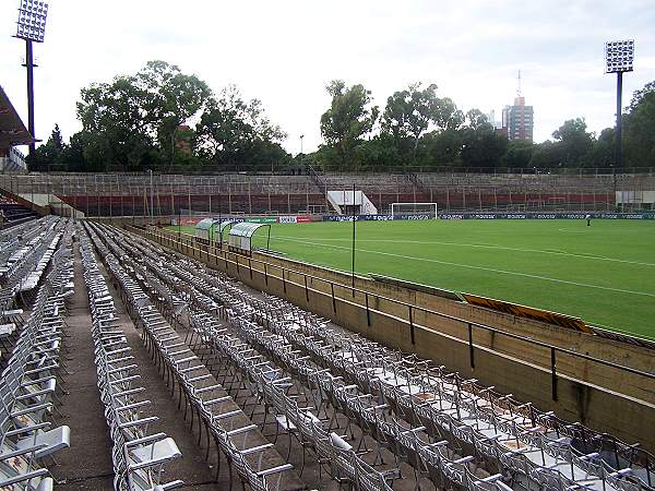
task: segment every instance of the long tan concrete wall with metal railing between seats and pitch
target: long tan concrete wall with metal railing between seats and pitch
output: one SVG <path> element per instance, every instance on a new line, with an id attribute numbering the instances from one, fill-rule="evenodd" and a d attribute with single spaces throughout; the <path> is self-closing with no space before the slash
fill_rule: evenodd
<path id="1" fill-rule="evenodd" d="M 388 312 L 398 309 L 397 306 L 388 304 L 391 302 L 378 300 L 374 304 L 372 296 L 368 295 L 367 310 L 366 294 L 355 292 L 353 297 L 347 287 L 283 270 L 282 265 L 273 264 L 273 261 L 262 264 L 234 253 L 215 251 L 213 248 L 210 252 L 207 248 L 193 247 L 190 241 L 178 242 L 177 235 L 174 233 L 129 228 L 162 246 L 226 272 L 258 290 L 285 298 L 370 339 L 431 359 L 464 376 L 495 385 L 499 392 L 511 393 L 519 400 L 529 400 L 540 410 L 553 410 L 560 418 L 580 421 L 628 443 L 640 442 L 642 447 L 655 450 L 655 424 L 652 423 L 655 404 L 647 397 L 651 394 L 652 399 L 652 394 L 655 393 L 652 379 L 597 363 L 558 358 L 557 382 L 553 387 L 549 366 L 543 363 L 546 355 L 537 352 L 535 347 L 531 350 L 525 342 L 475 334 L 472 362 L 468 330 L 464 330 L 458 321 L 442 322 L 437 328 L 425 325 L 427 319 L 413 315 L 410 324 L 406 315 Z M 323 271 L 323 276 L 327 278 L 336 278 L 340 274 Z M 359 278 L 357 282 L 365 279 Z M 334 296 L 332 288 L 335 289 Z M 508 355 L 521 354 L 522 350 L 523 357 Z M 547 351 L 549 358 L 550 352 Z"/>

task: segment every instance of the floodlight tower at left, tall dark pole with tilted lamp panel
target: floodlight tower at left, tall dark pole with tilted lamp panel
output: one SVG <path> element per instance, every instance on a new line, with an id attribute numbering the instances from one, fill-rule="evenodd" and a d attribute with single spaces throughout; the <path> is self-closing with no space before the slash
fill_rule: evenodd
<path id="1" fill-rule="evenodd" d="M 48 4 L 39 0 L 20 0 L 16 35 L 25 40 L 25 64 L 27 69 L 27 129 L 34 134 L 34 58 L 32 43 L 43 43 L 46 34 Z M 29 155 L 34 154 L 34 142 L 29 144 Z"/>

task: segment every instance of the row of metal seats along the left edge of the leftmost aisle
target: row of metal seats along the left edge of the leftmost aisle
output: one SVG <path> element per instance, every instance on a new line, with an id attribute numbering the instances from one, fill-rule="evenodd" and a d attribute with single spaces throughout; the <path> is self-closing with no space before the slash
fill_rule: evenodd
<path id="1" fill-rule="evenodd" d="M 70 429 L 53 428 L 66 303 L 73 295 L 72 225 L 63 223 L 52 267 L 0 375 L 0 489 L 47 491 L 45 457 L 70 446 Z"/>

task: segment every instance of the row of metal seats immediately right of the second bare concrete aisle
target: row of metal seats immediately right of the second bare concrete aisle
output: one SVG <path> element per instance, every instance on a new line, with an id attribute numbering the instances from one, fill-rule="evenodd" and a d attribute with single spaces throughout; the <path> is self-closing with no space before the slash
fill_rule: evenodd
<path id="1" fill-rule="evenodd" d="M 103 255 L 122 290 L 140 291 L 144 295 L 143 300 L 138 304 L 131 301 L 132 294 L 128 295 L 126 300 L 128 306 L 131 306 L 130 311 L 134 313 L 134 319 L 143 327 L 146 346 L 153 352 L 157 364 L 163 367 L 166 380 L 174 386 L 177 383 L 180 397 L 182 395 L 184 397 L 184 408 L 189 406 L 191 412 L 198 415 L 207 439 L 213 439 L 219 451 L 216 476 L 218 477 L 221 469 L 222 453 L 229 463 L 230 469 L 234 469 L 240 480 L 252 489 L 287 489 L 284 479 L 286 471 L 289 471 L 293 466 L 284 464 L 277 452 L 273 450 L 273 445 L 265 443 L 258 427 L 251 423 L 233 398 L 226 395 L 223 387 L 215 383 L 202 361 L 147 300 L 144 290 L 127 273 L 131 271 L 139 278 L 134 268 L 122 267 L 116 259 L 118 255 L 122 262 L 126 262 L 124 252 L 112 240 L 108 240 L 107 244 L 116 255 L 109 249 L 106 249 Z M 103 246 L 98 247 L 103 248 Z M 267 463 L 275 460 L 276 457 L 281 463 L 267 466 Z M 230 489 L 231 474 L 230 471 Z"/>

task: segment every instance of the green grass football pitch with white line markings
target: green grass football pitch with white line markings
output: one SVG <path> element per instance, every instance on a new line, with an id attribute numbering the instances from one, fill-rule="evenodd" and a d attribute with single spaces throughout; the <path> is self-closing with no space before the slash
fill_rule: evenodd
<path id="1" fill-rule="evenodd" d="M 174 227 L 177 229 L 177 227 Z M 193 233 L 193 227 L 182 227 Z M 254 246 L 265 248 L 266 230 Z M 271 249 L 350 271 L 352 223 L 276 224 Z M 358 221 L 355 271 L 581 316 L 655 338 L 655 221 Z"/>

